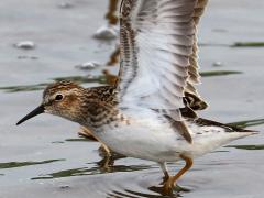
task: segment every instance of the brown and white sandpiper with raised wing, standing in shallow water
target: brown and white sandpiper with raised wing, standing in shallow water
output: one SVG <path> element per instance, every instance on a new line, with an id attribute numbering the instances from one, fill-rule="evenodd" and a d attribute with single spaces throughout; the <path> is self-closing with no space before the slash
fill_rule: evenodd
<path id="1" fill-rule="evenodd" d="M 170 193 L 201 156 L 230 141 L 255 134 L 197 117 L 206 109 L 198 95 L 197 26 L 208 0 L 123 0 L 120 9 L 121 68 L 114 86 L 50 85 L 40 107 L 78 122 L 111 150 L 157 162 Z M 169 176 L 166 162 L 186 165 Z"/>

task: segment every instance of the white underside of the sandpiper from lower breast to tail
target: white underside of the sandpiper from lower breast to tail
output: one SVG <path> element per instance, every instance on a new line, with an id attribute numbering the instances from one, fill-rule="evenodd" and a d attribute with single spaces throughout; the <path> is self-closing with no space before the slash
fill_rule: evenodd
<path id="1" fill-rule="evenodd" d="M 219 127 L 197 127 L 188 123 L 193 144 L 155 114 L 130 118 L 130 123 L 112 123 L 96 131 L 96 136 L 114 152 L 155 162 L 175 162 L 180 154 L 191 158 L 211 152 L 246 133 L 226 132 Z"/>

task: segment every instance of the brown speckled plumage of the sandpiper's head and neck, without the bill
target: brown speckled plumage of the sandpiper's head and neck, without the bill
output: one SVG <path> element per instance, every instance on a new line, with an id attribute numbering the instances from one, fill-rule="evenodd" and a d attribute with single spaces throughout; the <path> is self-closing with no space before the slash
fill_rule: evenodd
<path id="1" fill-rule="evenodd" d="M 58 94 L 64 96 L 61 102 L 54 100 Z M 90 127 L 99 127 L 118 119 L 117 91 L 113 86 L 82 88 L 72 81 L 59 81 L 45 89 L 43 100 L 51 113 L 78 123 L 88 123 Z"/>

